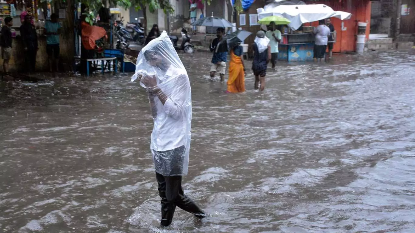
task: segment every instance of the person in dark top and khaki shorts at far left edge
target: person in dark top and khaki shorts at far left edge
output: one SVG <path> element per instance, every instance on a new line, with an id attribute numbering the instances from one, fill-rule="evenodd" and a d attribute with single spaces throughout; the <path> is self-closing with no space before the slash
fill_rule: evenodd
<path id="1" fill-rule="evenodd" d="M 3 73 L 9 72 L 10 53 L 12 51 L 12 31 L 13 19 L 6 17 L 4 19 L 5 25 L 1 29 L 1 55 L 3 58 Z"/>

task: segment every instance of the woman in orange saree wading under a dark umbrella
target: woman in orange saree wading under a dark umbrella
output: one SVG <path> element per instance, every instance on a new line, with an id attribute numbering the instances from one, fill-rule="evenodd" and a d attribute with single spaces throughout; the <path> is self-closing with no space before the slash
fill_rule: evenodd
<path id="1" fill-rule="evenodd" d="M 230 53 L 229 78 L 227 92 L 237 93 L 245 91 L 245 66 L 242 46 L 237 44 Z"/>

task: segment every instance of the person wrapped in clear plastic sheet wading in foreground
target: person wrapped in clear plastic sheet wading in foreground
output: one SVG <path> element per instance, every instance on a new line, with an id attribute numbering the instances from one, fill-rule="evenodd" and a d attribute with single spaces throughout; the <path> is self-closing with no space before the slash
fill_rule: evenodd
<path id="1" fill-rule="evenodd" d="M 139 53 L 136 72 L 146 88 L 154 120 L 151 153 L 161 197 L 161 226 L 168 226 L 176 206 L 203 218 L 203 211 L 181 186 L 187 175 L 192 100 L 189 77 L 166 32 Z"/>

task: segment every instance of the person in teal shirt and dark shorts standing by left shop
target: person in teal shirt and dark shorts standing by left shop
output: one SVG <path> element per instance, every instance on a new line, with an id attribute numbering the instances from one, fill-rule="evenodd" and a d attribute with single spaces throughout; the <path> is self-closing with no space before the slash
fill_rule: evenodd
<path id="1" fill-rule="evenodd" d="M 51 20 L 45 22 L 46 52 L 49 56 L 49 69 L 52 72 L 52 63 L 55 60 L 56 72 L 59 71 L 59 29 L 58 15 L 53 13 Z"/>

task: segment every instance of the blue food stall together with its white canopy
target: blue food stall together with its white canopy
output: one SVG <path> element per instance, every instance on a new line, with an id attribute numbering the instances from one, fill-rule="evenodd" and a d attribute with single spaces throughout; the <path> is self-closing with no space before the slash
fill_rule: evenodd
<path id="1" fill-rule="evenodd" d="M 313 60 L 314 34 L 311 22 L 337 17 L 349 19 L 350 13 L 334 11 L 324 4 L 313 5 L 278 5 L 257 9 L 258 19 L 271 15 L 279 15 L 290 20 L 281 29 L 281 43 L 278 45 L 278 60 L 311 61 Z M 334 42 L 334 41 L 330 41 Z"/>

